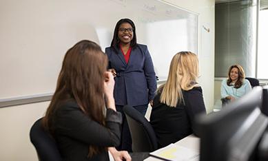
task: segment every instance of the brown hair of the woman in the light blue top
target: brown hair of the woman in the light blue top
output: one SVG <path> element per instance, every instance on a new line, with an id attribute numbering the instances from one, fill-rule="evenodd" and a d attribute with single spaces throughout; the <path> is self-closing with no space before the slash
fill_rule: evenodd
<path id="1" fill-rule="evenodd" d="M 241 65 L 238 65 L 238 64 L 231 65 L 231 67 L 229 67 L 227 85 L 231 86 L 230 74 L 231 74 L 231 69 L 233 69 L 234 67 L 236 67 L 238 69 L 238 80 L 234 84 L 234 88 L 240 88 L 243 85 L 243 82 L 245 79 L 245 72 L 244 72 L 243 67 Z"/>

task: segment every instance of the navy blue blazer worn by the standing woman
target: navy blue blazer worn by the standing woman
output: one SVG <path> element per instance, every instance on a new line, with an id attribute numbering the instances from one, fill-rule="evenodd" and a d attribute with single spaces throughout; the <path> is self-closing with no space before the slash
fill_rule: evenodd
<path id="1" fill-rule="evenodd" d="M 156 74 L 146 45 L 132 48 L 128 63 L 121 49 L 106 47 L 109 67 L 116 70 L 114 99 L 116 105 L 147 105 L 156 92 Z"/>

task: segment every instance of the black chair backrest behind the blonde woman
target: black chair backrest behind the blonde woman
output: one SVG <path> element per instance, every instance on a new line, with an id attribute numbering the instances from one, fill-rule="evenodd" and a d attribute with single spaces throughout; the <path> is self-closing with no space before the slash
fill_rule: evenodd
<path id="1" fill-rule="evenodd" d="M 157 149 L 156 134 L 150 122 L 140 112 L 129 105 L 125 105 L 123 111 L 127 118 L 127 124 L 130 127 L 132 151 L 155 151 Z"/>

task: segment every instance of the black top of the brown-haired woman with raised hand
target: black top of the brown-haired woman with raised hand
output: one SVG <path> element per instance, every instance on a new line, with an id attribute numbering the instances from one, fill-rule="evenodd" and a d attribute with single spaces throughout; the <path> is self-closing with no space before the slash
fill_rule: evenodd
<path id="1" fill-rule="evenodd" d="M 121 139 L 121 114 L 107 109 L 105 127 L 95 122 L 74 102 L 63 103 L 56 111 L 52 127 L 63 160 L 109 160 L 107 151 L 87 158 L 89 145 L 116 147 Z"/>

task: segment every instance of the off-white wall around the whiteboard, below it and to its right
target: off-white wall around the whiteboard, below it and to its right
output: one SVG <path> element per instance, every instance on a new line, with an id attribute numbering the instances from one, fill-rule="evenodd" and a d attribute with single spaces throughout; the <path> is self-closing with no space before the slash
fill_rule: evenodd
<path id="1" fill-rule="evenodd" d="M 200 14 L 199 82 L 203 87 L 207 111 L 212 111 L 214 105 L 214 0 L 168 0 L 167 2 Z M 203 25 L 209 28 L 210 32 L 206 32 Z M 48 102 L 0 109 L 0 160 L 37 160 L 36 151 L 30 143 L 29 131 L 34 120 L 43 116 L 46 107 L 48 107 Z"/>

